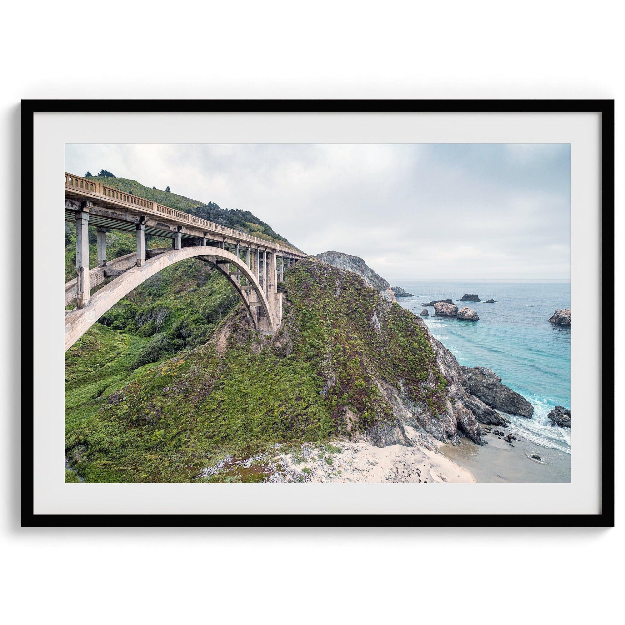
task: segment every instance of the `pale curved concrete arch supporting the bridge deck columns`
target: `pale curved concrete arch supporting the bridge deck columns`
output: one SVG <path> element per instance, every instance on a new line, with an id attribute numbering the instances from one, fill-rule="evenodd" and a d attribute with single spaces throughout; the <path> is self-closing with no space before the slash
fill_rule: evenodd
<path id="1" fill-rule="evenodd" d="M 262 307 L 265 314 L 269 331 L 272 332 L 276 329 L 277 321 L 273 314 L 273 306 L 270 304 L 269 299 L 267 299 L 264 289 L 262 289 L 257 281 L 254 272 L 252 272 L 245 262 L 241 261 L 235 254 L 225 249 L 220 249 L 219 247 L 183 247 L 182 249 L 172 249 L 162 252 L 158 254 L 158 256 L 154 256 L 148 261 L 145 261 L 142 266 L 133 267 L 132 269 L 128 269 L 128 271 L 124 271 L 121 276 L 116 277 L 113 281 L 109 282 L 109 284 L 106 284 L 106 286 L 103 286 L 99 291 L 95 292 L 93 296 L 91 296 L 87 306 L 66 312 L 65 351 L 68 351 L 69 347 L 83 336 L 89 327 L 93 326 L 104 312 L 108 311 L 130 291 L 138 287 L 139 284 L 145 282 L 149 277 L 154 276 L 154 274 L 165 267 L 194 257 L 209 262 L 227 277 L 232 286 L 236 289 L 239 297 L 241 297 L 254 326 L 258 327 L 258 317 L 256 312 L 252 311 L 252 307 L 256 308 L 256 306 L 259 305 Z M 219 261 L 222 261 L 223 264 L 236 266 L 237 272 L 247 278 L 251 291 L 256 295 L 256 299 L 253 301 L 254 306 L 251 304 L 252 300 L 247 296 L 247 289 L 244 289 L 241 283 L 234 279 L 227 269 L 223 269 Z"/>

